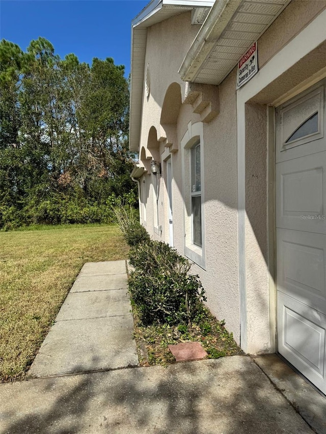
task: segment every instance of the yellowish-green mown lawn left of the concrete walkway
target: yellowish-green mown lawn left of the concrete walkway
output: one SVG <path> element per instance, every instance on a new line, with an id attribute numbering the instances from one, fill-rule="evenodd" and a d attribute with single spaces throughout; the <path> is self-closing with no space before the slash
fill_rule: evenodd
<path id="1" fill-rule="evenodd" d="M 4 382 L 24 378 L 83 264 L 124 259 L 128 247 L 114 225 L 0 232 L 0 245 L 0 381 Z"/>

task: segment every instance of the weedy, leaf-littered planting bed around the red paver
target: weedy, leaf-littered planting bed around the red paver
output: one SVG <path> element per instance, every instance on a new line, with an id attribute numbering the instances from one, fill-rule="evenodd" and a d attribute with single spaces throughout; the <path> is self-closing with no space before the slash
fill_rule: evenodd
<path id="1" fill-rule="evenodd" d="M 190 326 L 153 324 L 145 327 L 140 320 L 137 306 L 133 305 L 132 311 L 135 326 L 134 336 L 141 366 L 166 366 L 169 363 L 174 363 L 175 359 L 169 351 L 168 345 L 189 341 L 200 342 L 207 352 L 208 359 L 242 354 L 232 333 L 228 333 L 224 328 L 224 322 L 216 320 L 206 308 L 198 324 Z"/>

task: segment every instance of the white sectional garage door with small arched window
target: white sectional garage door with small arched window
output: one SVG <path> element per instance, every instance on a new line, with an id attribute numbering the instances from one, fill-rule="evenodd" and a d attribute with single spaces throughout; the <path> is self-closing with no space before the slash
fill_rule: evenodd
<path id="1" fill-rule="evenodd" d="M 326 394 L 325 80 L 277 108 L 278 351 Z"/>

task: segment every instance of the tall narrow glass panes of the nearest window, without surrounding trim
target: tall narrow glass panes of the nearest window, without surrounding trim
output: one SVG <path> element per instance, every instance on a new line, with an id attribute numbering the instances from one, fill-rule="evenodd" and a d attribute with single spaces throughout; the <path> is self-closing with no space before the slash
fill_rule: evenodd
<path id="1" fill-rule="evenodd" d="M 200 142 L 191 150 L 192 226 L 193 243 L 202 247 Z"/>

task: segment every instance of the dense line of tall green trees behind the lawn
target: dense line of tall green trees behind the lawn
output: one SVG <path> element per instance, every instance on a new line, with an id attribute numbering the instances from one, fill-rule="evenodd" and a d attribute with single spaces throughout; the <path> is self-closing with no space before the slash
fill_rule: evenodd
<path id="1" fill-rule="evenodd" d="M 0 228 L 108 222 L 135 202 L 129 86 L 111 57 L 64 59 L 44 38 L 0 42 Z M 118 198 L 118 199 L 117 199 Z"/>

